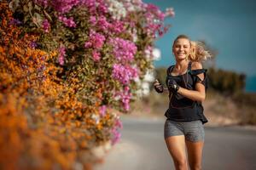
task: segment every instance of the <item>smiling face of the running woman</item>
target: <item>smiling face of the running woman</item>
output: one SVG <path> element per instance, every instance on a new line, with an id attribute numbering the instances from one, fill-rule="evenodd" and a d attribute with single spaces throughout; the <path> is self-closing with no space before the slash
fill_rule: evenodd
<path id="1" fill-rule="evenodd" d="M 172 52 L 177 60 L 186 59 L 190 52 L 190 42 L 186 38 L 178 38 L 172 47 Z"/>

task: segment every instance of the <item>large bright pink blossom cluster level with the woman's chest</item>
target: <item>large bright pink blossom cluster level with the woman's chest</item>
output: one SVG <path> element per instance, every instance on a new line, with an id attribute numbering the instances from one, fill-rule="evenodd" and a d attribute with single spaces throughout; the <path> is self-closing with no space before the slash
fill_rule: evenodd
<path id="1" fill-rule="evenodd" d="M 122 84 L 129 84 L 130 80 L 138 76 L 137 69 L 131 65 L 114 64 L 112 71 L 113 78 L 117 79 Z"/>

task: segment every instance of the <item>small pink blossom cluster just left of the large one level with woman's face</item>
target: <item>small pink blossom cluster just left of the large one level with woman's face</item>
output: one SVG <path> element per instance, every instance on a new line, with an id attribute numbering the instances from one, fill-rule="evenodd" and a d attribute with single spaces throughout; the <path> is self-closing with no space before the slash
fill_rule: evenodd
<path id="1" fill-rule="evenodd" d="M 100 49 L 102 48 L 105 39 L 106 38 L 102 34 L 90 30 L 89 41 L 84 43 L 84 48 Z"/>

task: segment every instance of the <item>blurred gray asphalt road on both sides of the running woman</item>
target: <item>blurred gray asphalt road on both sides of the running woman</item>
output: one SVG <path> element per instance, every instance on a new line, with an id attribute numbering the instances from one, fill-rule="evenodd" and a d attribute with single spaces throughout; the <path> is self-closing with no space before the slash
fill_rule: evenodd
<path id="1" fill-rule="evenodd" d="M 96 170 L 171 170 L 172 158 L 163 137 L 165 120 L 122 117 L 119 144 Z M 204 170 L 255 170 L 256 130 L 205 127 Z"/>

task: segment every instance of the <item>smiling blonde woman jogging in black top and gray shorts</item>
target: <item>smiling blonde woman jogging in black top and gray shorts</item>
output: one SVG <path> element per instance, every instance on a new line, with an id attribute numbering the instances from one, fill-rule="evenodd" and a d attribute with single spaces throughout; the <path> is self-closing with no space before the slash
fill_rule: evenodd
<path id="1" fill-rule="evenodd" d="M 207 122 L 201 105 L 206 99 L 207 70 L 202 68 L 201 61 L 210 54 L 200 42 L 192 42 L 185 35 L 174 40 L 172 53 L 176 64 L 166 72 L 170 98 L 165 114 L 166 145 L 177 170 L 199 170 L 205 137 L 203 124 Z M 157 80 L 154 88 L 158 93 L 164 92 L 164 86 Z"/>

